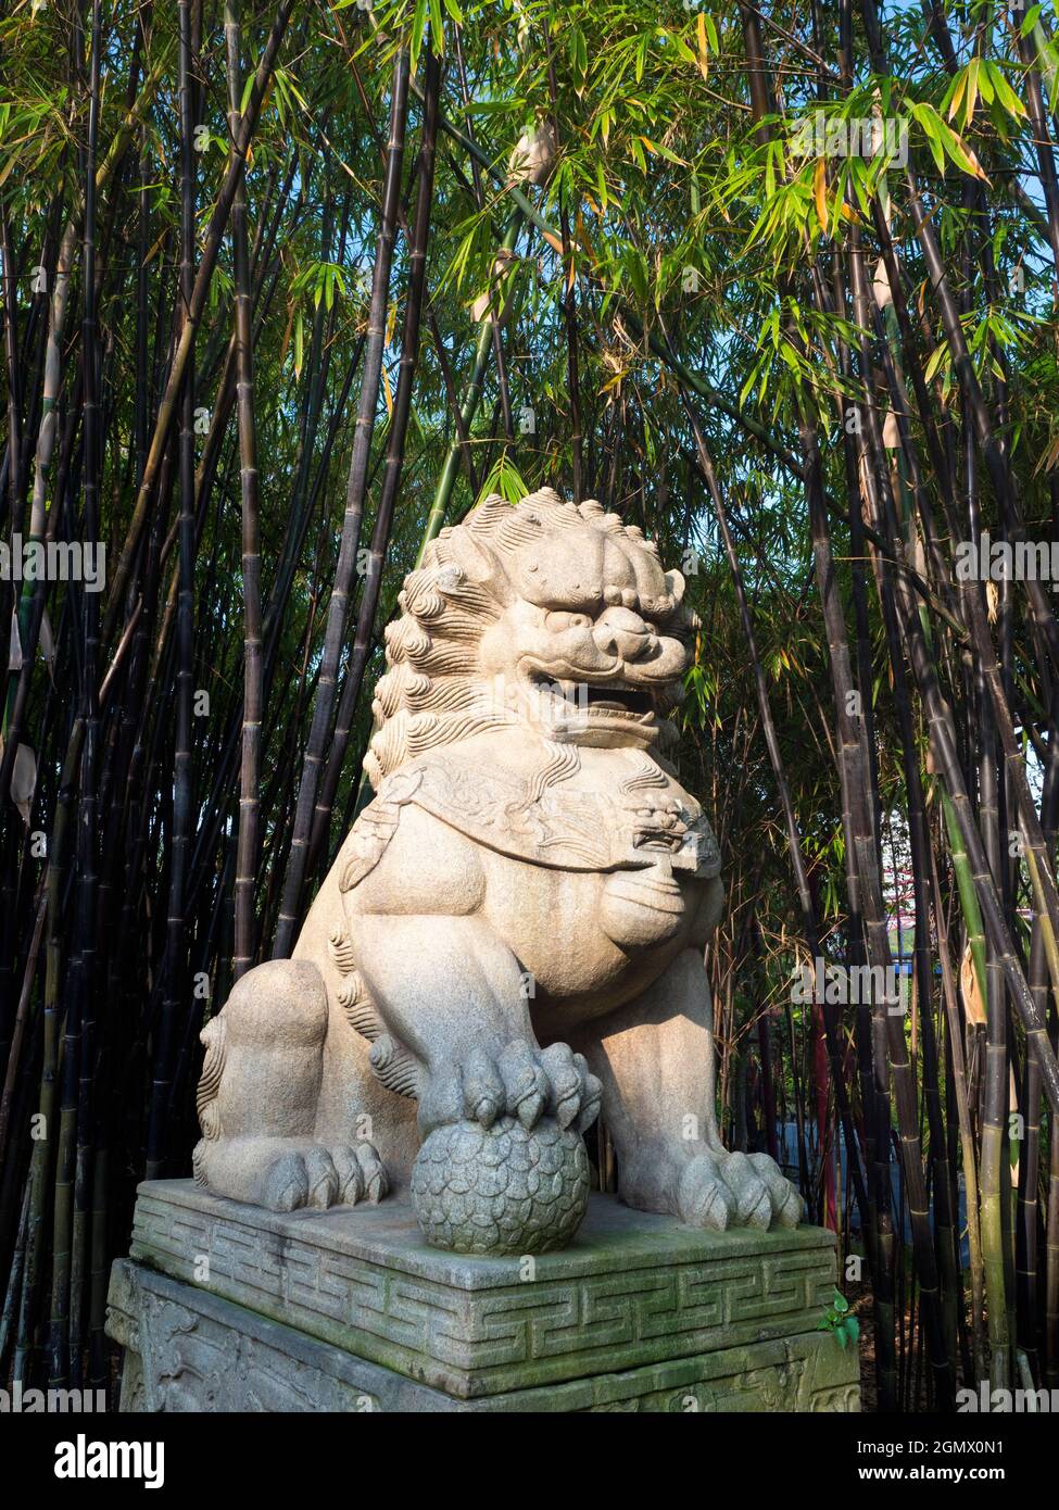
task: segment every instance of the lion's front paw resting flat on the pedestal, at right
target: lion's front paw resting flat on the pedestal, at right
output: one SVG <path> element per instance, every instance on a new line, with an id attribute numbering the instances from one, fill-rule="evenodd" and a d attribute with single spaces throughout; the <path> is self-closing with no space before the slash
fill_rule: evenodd
<path id="1" fill-rule="evenodd" d="M 798 1226 L 802 1197 L 767 1154 L 696 1154 L 677 1191 L 680 1220 L 689 1226 Z"/>

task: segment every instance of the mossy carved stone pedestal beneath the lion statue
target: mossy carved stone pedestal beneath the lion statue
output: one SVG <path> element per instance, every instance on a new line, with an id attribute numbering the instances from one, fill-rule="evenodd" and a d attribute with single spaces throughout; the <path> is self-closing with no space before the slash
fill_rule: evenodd
<path id="1" fill-rule="evenodd" d="M 464 1258 L 411 1208 L 289 1216 L 139 1188 L 107 1330 L 122 1410 L 857 1410 L 817 1324 L 834 1237 L 702 1232 L 592 1196 L 570 1247 Z"/>

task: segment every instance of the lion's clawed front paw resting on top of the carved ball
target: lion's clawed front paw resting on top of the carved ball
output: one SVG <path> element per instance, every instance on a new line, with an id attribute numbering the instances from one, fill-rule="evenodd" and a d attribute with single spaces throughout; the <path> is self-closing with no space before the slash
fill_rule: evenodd
<path id="1" fill-rule="evenodd" d="M 468 1119 L 488 1129 L 511 1116 L 529 1129 L 547 1114 L 560 1128 L 583 1132 L 597 1117 L 600 1095 L 583 1054 L 567 1043 L 539 1049 L 527 1039 L 512 1039 L 497 1054 L 473 1048 L 462 1063 L 435 1071 L 420 1105 L 420 1126 L 429 1132 Z"/>

